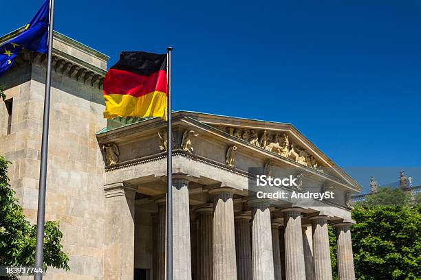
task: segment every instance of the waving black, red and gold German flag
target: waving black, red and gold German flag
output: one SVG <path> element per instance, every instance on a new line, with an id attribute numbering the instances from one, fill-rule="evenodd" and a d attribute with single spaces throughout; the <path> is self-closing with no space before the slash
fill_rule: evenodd
<path id="1" fill-rule="evenodd" d="M 166 119 L 166 54 L 123 51 L 104 79 L 104 117 Z"/>

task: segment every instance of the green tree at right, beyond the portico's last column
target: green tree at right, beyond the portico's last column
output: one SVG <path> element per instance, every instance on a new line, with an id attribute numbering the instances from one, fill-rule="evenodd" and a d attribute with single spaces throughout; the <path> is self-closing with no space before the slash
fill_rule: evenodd
<path id="1" fill-rule="evenodd" d="M 352 209 L 352 250 L 358 280 L 421 279 L 420 205 L 402 189 L 379 188 Z M 337 280 L 336 237 L 330 226 L 332 272 Z"/>

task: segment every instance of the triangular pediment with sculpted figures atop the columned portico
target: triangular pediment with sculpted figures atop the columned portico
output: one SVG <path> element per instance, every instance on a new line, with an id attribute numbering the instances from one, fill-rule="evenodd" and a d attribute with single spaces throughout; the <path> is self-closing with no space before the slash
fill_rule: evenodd
<path id="1" fill-rule="evenodd" d="M 194 117 L 190 117 L 216 128 L 222 134 L 248 143 L 250 148 L 277 154 L 279 159 L 288 159 L 316 172 L 334 176 L 360 189 L 360 185 L 353 178 L 291 124 L 202 113 L 194 113 Z"/>

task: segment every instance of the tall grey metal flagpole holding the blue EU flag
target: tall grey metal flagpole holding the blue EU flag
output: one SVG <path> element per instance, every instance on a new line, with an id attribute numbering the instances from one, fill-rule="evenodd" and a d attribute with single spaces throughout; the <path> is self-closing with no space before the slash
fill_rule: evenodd
<path id="1" fill-rule="evenodd" d="M 35 268 L 43 268 L 45 192 L 47 183 L 48 128 L 50 124 L 50 89 L 52 68 L 52 45 L 54 31 L 54 0 L 50 0 L 50 24 L 48 25 L 47 74 L 45 78 L 45 101 L 43 115 L 43 137 L 41 145 L 41 169 L 39 172 L 38 213 L 36 215 Z M 42 273 L 34 273 L 34 280 L 43 279 Z"/>

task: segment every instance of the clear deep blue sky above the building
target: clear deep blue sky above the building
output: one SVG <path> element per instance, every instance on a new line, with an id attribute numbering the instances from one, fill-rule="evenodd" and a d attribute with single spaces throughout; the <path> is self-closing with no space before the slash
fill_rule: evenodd
<path id="1" fill-rule="evenodd" d="M 40 5 L 3 13 L 0 32 Z M 365 186 L 401 169 L 421 185 L 420 0 L 56 0 L 55 23 L 109 66 L 172 45 L 175 110 L 288 122 Z"/>

